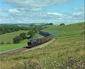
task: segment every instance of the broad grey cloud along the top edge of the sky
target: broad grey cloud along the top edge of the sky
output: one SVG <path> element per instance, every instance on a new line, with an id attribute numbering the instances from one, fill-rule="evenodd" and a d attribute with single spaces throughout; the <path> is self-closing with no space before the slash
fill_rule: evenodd
<path id="1" fill-rule="evenodd" d="M 57 5 L 71 0 L 6 0 L 11 6 L 22 10 L 39 11 L 44 7 Z"/>

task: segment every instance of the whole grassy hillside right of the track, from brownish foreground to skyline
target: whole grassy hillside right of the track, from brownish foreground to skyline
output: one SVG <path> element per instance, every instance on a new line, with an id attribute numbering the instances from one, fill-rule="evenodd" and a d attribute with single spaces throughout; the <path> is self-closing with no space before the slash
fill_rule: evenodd
<path id="1" fill-rule="evenodd" d="M 66 67 L 78 69 L 76 62 L 78 61 L 79 65 L 85 62 L 84 34 L 81 34 L 83 23 L 54 27 L 56 28 L 61 32 L 58 37 L 55 37 L 53 43 L 43 48 L 1 57 L 2 69 L 19 69 L 20 67 L 23 69 L 27 67 L 30 69 L 66 69 Z M 71 59 L 69 60 L 68 57 Z"/>

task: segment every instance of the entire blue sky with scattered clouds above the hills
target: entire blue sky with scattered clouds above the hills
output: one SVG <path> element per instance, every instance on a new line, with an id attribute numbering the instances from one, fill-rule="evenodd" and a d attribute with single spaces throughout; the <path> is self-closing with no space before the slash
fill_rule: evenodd
<path id="1" fill-rule="evenodd" d="M 0 0 L 0 24 L 85 22 L 84 0 Z"/>

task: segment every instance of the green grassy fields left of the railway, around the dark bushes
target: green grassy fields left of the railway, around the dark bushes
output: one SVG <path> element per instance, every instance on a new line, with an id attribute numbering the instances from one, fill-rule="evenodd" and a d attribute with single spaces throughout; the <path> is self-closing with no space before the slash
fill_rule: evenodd
<path id="1" fill-rule="evenodd" d="M 0 35 L 0 40 L 3 41 L 4 43 L 7 43 L 7 42 L 11 42 L 12 43 L 13 42 L 13 38 L 15 36 L 18 36 L 22 32 L 27 33 L 28 31 L 18 31 L 18 32 L 3 34 L 3 35 Z M 39 34 L 36 34 L 34 37 L 32 37 L 32 39 L 42 38 L 42 37 L 43 36 L 41 36 Z M 27 42 L 28 41 L 29 41 L 29 39 L 25 39 L 25 40 L 21 41 L 21 43 L 19 43 L 19 44 L 4 44 L 4 45 L 0 45 L 0 52 L 27 46 Z"/>

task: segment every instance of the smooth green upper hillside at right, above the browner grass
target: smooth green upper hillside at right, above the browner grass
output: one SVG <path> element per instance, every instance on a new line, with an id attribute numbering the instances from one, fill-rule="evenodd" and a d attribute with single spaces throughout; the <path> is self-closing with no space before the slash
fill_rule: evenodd
<path id="1" fill-rule="evenodd" d="M 55 37 L 58 36 L 58 38 L 77 37 L 81 36 L 81 33 L 84 31 L 84 22 L 65 26 L 48 26 L 43 31 L 49 32 Z"/>

